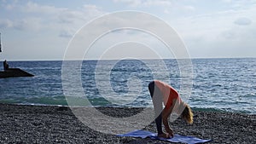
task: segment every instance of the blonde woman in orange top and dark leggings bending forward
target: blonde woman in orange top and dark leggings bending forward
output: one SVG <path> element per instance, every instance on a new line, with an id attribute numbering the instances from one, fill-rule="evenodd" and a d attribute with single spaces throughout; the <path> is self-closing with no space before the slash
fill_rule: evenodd
<path id="1" fill-rule="evenodd" d="M 168 124 L 168 118 L 172 112 L 176 112 L 187 123 L 193 123 L 193 112 L 188 104 L 179 97 L 177 90 L 172 86 L 159 80 L 154 80 L 148 84 L 149 93 L 153 100 L 155 123 L 159 137 L 170 138 L 173 131 Z M 164 103 L 164 109 L 163 109 Z M 166 133 L 162 130 L 162 123 L 165 126 Z"/>

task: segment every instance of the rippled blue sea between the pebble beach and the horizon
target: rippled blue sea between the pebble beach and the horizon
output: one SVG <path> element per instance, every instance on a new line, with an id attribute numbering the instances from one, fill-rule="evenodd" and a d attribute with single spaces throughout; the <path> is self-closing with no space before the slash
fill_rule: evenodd
<path id="1" fill-rule="evenodd" d="M 10 67 L 35 76 L 0 78 L 0 103 L 68 105 L 65 91 L 69 89 L 63 87 L 66 79 L 62 77 L 62 60 L 8 62 Z M 79 69 L 71 65 L 66 75 L 79 78 L 84 92 L 76 93 L 79 90 L 74 87 L 72 94 L 89 100 L 90 107 L 153 107 L 148 92 L 150 81 L 163 80 L 177 91 L 186 85 L 175 59 L 73 60 L 70 63 L 78 64 Z M 256 114 L 256 58 L 192 59 L 191 66 L 191 89 L 184 101 L 192 109 Z"/>

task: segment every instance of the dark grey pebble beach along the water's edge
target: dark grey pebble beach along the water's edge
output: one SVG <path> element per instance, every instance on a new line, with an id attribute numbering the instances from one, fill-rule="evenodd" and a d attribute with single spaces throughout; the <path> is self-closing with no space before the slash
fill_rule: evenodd
<path id="1" fill-rule="evenodd" d="M 142 108 L 99 107 L 114 117 L 125 117 Z M 212 139 L 208 143 L 256 143 L 256 115 L 230 112 L 194 112 L 194 124 L 178 118 L 171 123 L 179 135 Z M 119 137 L 91 130 L 68 107 L 40 107 L 0 104 L 0 143 L 171 143 L 150 139 Z M 155 130 L 149 124 L 144 130 Z"/>

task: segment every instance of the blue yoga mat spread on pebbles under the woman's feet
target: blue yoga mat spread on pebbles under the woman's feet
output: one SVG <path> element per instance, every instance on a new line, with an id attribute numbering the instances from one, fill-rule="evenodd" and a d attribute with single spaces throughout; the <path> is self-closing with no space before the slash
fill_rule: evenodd
<path id="1" fill-rule="evenodd" d="M 131 137 L 141 137 L 141 138 L 146 138 L 149 137 L 150 139 L 153 140 L 163 140 L 163 141 L 171 141 L 171 142 L 182 142 L 182 143 L 204 143 L 212 140 L 202 140 L 194 136 L 185 136 L 185 135 L 177 135 L 175 134 L 172 138 L 170 139 L 165 139 L 165 138 L 160 138 L 156 135 L 156 133 L 146 131 L 146 130 L 135 130 L 132 132 L 129 132 L 127 134 L 121 134 L 119 136 L 131 136 Z"/>

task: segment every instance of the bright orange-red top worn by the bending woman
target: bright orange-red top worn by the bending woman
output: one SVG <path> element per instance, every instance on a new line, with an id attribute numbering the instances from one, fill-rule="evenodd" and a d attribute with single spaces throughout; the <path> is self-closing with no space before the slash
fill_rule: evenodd
<path id="1" fill-rule="evenodd" d="M 160 89 L 162 93 L 165 108 L 170 108 L 172 106 L 173 99 L 181 101 L 177 90 L 173 89 L 172 86 L 159 80 L 154 80 L 154 84 L 156 84 L 156 86 Z"/>

